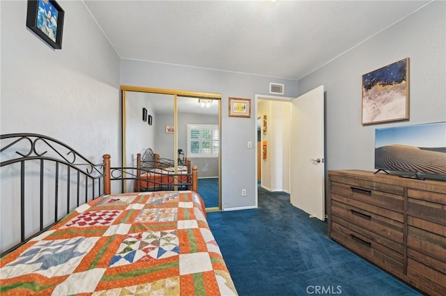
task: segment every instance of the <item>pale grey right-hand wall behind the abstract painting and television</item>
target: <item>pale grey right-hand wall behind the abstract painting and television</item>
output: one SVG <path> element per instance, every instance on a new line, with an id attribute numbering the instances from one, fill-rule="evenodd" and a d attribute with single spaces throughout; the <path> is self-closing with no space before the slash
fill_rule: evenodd
<path id="1" fill-rule="evenodd" d="M 417 13 L 300 79 L 299 93 L 325 89 L 325 168 L 374 171 L 376 128 L 446 120 L 445 1 Z M 410 58 L 410 120 L 361 124 L 362 75 Z"/>

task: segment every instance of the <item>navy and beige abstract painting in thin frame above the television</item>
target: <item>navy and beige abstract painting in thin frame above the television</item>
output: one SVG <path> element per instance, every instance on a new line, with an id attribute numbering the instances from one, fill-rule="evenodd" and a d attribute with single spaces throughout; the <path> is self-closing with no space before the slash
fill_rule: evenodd
<path id="1" fill-rule="evenodd" d="M 409 58 L 362 75 L 362 124 L 409 119 Z"/>

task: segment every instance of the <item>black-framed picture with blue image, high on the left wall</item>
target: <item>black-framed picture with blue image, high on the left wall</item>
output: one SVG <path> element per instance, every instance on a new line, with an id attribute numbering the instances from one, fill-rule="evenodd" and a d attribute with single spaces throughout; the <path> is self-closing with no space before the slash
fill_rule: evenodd
<path id="1" fill-rule="evenodd" d="M 56 1 L 28 0 L 26 26 L 54 49 L 61 49 L 64 15 Z"/>

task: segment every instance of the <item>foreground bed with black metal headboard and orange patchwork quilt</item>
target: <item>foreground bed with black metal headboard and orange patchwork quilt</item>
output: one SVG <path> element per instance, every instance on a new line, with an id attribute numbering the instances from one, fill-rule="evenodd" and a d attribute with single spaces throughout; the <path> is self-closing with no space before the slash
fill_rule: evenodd
<path id="1" fill-rule="evenodd" d="M 237 295 L 199 194 L 111 194 L 110 159 L 1 135 L 0 294 Z"/>

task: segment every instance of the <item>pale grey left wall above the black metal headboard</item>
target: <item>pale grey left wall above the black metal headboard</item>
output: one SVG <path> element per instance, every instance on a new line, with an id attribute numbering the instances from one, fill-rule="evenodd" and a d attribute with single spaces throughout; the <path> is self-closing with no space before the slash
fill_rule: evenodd
<path id="1" fill-rule="evenodd" d="M 119 58 L 82 1 L 66 11 L 62 49 L 26 28 L 26 1 L 1 2 L 1 134 L 59 139 L 121 163 Z"/>

